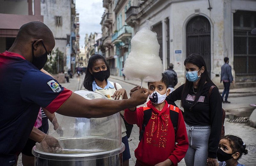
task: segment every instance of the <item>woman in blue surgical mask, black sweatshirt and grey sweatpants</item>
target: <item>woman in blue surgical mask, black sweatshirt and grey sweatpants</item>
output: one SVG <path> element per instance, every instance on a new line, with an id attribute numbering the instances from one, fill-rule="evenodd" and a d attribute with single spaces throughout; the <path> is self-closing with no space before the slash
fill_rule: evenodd
<path id="1" fill-rule="evenodd" d="M 184 61 L 186 82 L 175 89 L 166 101 L 181 100 L 184 109 L 189 147 L 186 166 L 215 166 L 221 133 L 222 98 L 210 79 L 202 56 L 191 54 Z M 215 86 L 210 96 L 210 87 Z"/>

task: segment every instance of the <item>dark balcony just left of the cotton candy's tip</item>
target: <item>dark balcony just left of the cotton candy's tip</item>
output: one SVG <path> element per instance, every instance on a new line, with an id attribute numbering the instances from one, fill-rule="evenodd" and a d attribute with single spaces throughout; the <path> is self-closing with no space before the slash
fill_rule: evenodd
<path id="1" fill-rule="evenodd" d="M 139 13 L 139 6 L 131 6 L 125 13 L 126 13 L 126 20 L 125 22 L 129 25 L 134 27 L 135 24 L 139 24 L 137 14 Z"/>

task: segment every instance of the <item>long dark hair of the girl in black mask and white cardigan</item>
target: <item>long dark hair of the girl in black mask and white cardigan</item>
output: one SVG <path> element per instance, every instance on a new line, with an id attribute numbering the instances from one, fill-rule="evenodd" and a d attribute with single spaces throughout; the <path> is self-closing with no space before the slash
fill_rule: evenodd
<path id="1" fill-rule="evenodd" d="M 110 76 L 110 69 L 109 69 L 109 65 L 106 61 L 106 59 L 104 57 L 102 57 L 100 54 L 93 54 L 90 58 L 89 58 L 89 61 L 88 61 L 88 65 L 87 65 L 87 69 L 86 69 L 86 72 L 85 72 L 85 76 L 84 76 L 84 88 L 86 88 L 87 90 L 90 90 L 92 91 L 92 82 L 94 81 L 94 77 L 93 75 L 90 73 L 89 69 L 92 70 L 92 66 L 93 64 L 98 61 L 98 60 L 103 60 L 107 66 L 107 76 L 105 78 L 105 80 L 107 81 L 107 79 L 109 78 Z"/>

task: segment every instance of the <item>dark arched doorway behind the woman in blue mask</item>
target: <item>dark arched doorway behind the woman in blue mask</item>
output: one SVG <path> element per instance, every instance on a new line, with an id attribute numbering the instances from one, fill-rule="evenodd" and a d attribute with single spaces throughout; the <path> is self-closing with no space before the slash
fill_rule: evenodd
<path id="1" fill-rule="evenodd" d="M 196 16 L 188 21 L 186 27 L 186 54 L 200 54 L 211 73 L 211 25 L 204 16 Z"/>

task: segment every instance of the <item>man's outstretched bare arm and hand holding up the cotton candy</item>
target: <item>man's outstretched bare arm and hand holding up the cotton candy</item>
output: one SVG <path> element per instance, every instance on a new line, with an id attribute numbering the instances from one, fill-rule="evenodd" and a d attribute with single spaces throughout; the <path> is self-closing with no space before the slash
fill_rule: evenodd
<path id="1" fill-rule="evenodd" d="M 78 94 L 72 93 L 57 112 L 70 117 L 107 117 L 126 108 L 144 104 L 147 98 L 148 90 L 145 88 L 136 90 L 129 99 L 123 100 L 87 100 Z"/>

